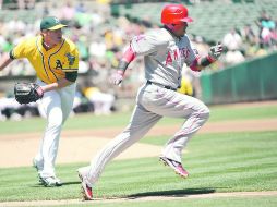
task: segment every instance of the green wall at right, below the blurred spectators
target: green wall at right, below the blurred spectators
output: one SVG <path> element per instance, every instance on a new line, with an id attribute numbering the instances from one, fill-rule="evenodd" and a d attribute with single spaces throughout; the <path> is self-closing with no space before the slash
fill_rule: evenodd
<path id="1" fill-rule="evenodd" d="M 277 99 L 277 52 L 203 74 L 201 86 L 206 104 Z"/>

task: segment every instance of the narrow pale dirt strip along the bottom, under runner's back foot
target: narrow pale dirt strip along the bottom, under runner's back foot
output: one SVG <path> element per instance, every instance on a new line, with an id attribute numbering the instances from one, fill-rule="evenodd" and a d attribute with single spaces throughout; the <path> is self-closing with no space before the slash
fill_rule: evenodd
<path id="1" fill-rule="evenodd" d="M 257 197 L 257 196 L 277 196 L 277 191 L 269 192 L 233 192 L 233 193 L 212 193 L 212 194 L 183 194 L 170 196 L 140 196 L 140 197 L 122 197 L 122 198 L 100 198 L 89 202 L 80 199 L 67 200 L 34 200 L 34 202 L 5 202 L 0 203 L 5 207 L 11 206 L 60 206 L 60 205 L 81 205 L 81 204 L 116 204 L 116 203 L 136 203 L 136 202 L 155 202 L 155 200 L 178 200 L 178 199 L 201 199 L 201 198 L 220 198 L 220 197 Z"/>

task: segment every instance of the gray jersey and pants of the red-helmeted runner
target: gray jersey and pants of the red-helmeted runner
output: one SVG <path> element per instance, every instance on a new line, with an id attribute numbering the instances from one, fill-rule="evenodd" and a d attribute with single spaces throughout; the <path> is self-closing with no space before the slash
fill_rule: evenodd
<path id="1" fill-rule="evenodd" d="M 137 92 L 136 106 L 125 130 L 82 168 L 95 184 L 106 163 L 141 139 L 164 115 L 186 119 L 181 130 L 166 144 L 162 156 L 181 162 L 182 149 L 192 135 L 207 121 L 208 108 L 198 99 L 176 92 L 183 64 L 196 59 L 186 35 L 177 38 L 165 28 L 132 39 L 136 56 L 144 56 L 147 82 Z"/>

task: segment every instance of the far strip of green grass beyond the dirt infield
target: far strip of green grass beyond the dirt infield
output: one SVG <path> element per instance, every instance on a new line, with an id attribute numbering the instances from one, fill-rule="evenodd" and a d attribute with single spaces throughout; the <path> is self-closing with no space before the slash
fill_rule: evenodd
<path id="1" fill-rule="evenodd" d="M 82 130 L 82 129 L 101 129 L 101 127 L 124 127 L 131 117 L 131 112 L 113 113 L 108 117 L 97 117 L 93 113 L 77 114 L 70 118 L 64 130 Z M 246 119 L 268 119 L 277 118 L 277 105 L 261 107 L 240 107 L 233 108 L 229 106 L 210 107 L 210 119 L 208 122 L 219 122 L 229 120 L 246 120 Z M 16 134 L 25 132 L 43 132 L 45 120 L 41 118 L 26 119 L 22 122 L 7 121 L 0 124 L 0 134 Z M 181 124 L 183 120 L 164 118 L 158 124 Z M 12 130 L 11 130 L 12 129 Z"/>

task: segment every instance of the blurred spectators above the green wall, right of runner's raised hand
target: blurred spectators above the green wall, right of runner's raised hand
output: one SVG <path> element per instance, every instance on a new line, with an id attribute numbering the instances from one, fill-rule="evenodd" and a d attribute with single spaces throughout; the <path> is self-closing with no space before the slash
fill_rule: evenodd
<path id="1" fill-rule="evenodd" d="M 253 24 L 242 28 L 232 28 L 222 38 L 227 52 L 224 65 L 243 62 L 254 57 L 265 56 L 277 50 L 277 27 L 266 11 Z"/>

